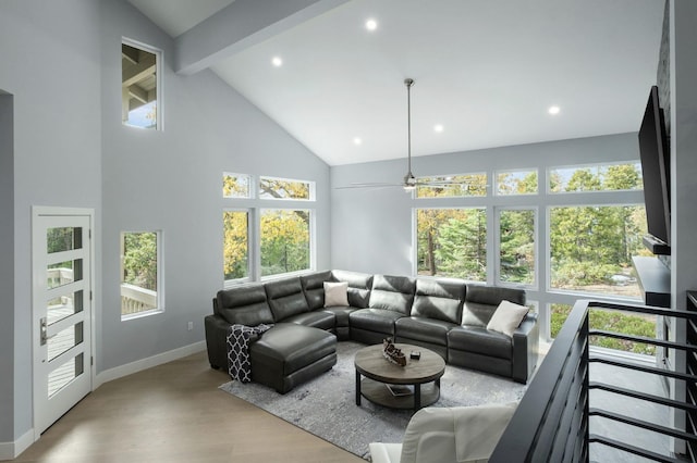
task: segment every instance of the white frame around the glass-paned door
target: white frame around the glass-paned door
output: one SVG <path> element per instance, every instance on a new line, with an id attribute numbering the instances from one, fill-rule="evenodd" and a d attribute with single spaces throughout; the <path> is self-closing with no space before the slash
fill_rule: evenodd
<path id="1" fill-rule="evenodd" d="M 34 236 L 34 229 L 37 226 L 37 220 L 39 216 L 41 215 L 53 215 L 53 216 L 74 216 L 74 215 L 82 215 L 82 216 L 87 216 L 89 218 L 89 233 L 90 233 L 90 239 L 89 239 L 89 259 L 90 259 L 90 266 L 89 266 L 89 278 L 90 278 L 90 292 L 91 292 L 91 300 L 89 303 L 89 325 L 90 325 L 90 334 L 89 334 L 89 341 L 90 341 L 90 352 L 89 352 L 89 359 L 88 361 L 86 360 L 86 366 L 89 367 L 89 391 L 94 391 L 95 390 L 95 385 L 96 385 L 96 364 L 95 364 L 95 358 L 97 354 L 97 343 L 96 343 L 96 301 L 98 300 L 97 298 L 97 290 L 96 290 L 96 253 L 95 253 L 95 241 L 96 241 L 96 233 L 95 233 L 95 209 L 94 208 L 62 208 L 62 207 L 45 207 L 45 205 L 33 205 L 32 207 L 32 236 Z M 34 240 L 32 239 L 32 281 L 34 281 L 34 272 L 35 272 L 35 255 L 34 255 Z M 35 299 L 35 288 L 34 288 L 34 283 L 32 283 L 32 321 L 34 321 L 35 317 L 35 306 L 37 301 L 34 300 Z M 36 339 L 35 337 L 37 336 L 37 334 L 40 336 L 40 333 L 37 333 L 40 328 L 38 326 L 36 326 L 35 323 L 32 323 L 32 428 L 34 429 L 34 441 L 37 441 L 40 437 L 41 437 L 41 433 L 38 430 L 36 423 L 37 423 L 37 410 L 36 410 L 36 403 L 35 403 L 35 393 L 34 393 L 34 386 L 35 386 L 35 381 L 37 380 L 37 378 L 35 378 L 35 365 L 34 365 L 34 359 L 35 359 L 35 346 L 34 346 L 34 339 Z"/>

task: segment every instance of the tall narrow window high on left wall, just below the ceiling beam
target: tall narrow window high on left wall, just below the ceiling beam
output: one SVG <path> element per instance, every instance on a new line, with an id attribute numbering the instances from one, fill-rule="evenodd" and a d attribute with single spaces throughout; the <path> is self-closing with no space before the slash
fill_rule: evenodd
<path id="1" fill-rule="evenodd" d="M 140 43 L 121 43 L 121 118 L 124 125 L 161 128 L 160 52 Z"/>

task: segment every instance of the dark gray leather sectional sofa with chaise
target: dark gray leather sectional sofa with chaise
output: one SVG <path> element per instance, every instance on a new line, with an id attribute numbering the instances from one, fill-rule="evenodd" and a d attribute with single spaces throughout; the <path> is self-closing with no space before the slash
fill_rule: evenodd
<path id="1" fill-rule="evenodd" d="M 348 306 L 325 306 L 325 281 L 346 281 Z M 526 383 L 537 365 L 539 327 L 528 313 L 512 337 L 487 329 L 502 300 L 524 305 L 521 289 L 457 279 L 316 272 L 218 291 L 205 317 L 208 359 L 228 365 L 231 324 L 273 328 L 249 347 L 252 379 L 281 393 L 330 370 L 335 342 L 355 340 L 421 346 L 448 363 Z"/>

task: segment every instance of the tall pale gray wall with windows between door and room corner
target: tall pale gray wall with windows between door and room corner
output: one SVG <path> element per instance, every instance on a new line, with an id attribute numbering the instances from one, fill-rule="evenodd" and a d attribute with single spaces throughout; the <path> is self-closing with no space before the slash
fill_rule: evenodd
<path id="1" fill-rule="evenodd" d="M 204 339 L 223 284 L 222 211 L 239 204 L 221 197 L 223 171 L 317 182 L 318 266 L 329 266 L 328 166 L 212 72 L 174 74 L 173 41 L 129 3 L 105 2 L 102 14 L 99 371 Z M 121 37 L 163 52 L 162 132 L 121 124 Z M 121 322 L 119 235 L 143 229 L 162 230 L 166 310 Z"/>

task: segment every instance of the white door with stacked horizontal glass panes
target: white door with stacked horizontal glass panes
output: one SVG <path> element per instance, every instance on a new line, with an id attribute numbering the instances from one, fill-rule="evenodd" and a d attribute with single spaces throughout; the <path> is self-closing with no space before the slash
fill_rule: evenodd
<path id="1" fill-rule="evenodd" d="M 33 213 L 34 434 L 91 390 L 91 210 Z"/>

